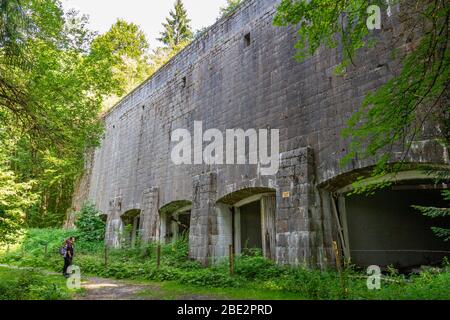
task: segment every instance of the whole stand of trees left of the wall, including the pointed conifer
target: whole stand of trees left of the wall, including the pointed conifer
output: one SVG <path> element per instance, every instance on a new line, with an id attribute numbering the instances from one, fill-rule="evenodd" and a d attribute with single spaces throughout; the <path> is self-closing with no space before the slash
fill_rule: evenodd
<path id="1" fill-rule="evenodd" d="M 150 53 L 133 23 L 98 35 L 58 0 L 0 0 L 0 242 L 62 225 L 100 115 L 192 39 L 182 2 L 175 8 Z"/>

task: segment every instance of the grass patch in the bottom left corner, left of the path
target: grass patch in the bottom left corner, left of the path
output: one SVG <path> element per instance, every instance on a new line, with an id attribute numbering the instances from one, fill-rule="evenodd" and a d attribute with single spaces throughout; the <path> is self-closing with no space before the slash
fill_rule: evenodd
<path id="1" fill-rule="evenodd" d="M 0 300 L 67 300 L 74 293 L 62 276 L 0 267 Z"/>

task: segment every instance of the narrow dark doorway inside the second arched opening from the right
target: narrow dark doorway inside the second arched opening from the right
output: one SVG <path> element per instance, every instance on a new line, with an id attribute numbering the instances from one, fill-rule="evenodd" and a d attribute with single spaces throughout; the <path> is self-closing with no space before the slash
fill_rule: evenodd
<path id="1" fill-rule="evenodd" d="M 240 207 L 242 251 L 262 249 L 261 202 Z"/>

